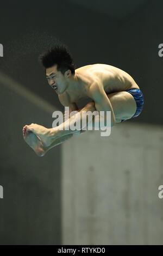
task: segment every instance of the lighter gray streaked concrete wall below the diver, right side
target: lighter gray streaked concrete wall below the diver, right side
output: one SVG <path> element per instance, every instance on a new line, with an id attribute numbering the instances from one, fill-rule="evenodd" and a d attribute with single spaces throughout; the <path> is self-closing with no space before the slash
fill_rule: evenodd
<path id="1" fill-rule="evenodd" d="M 162 140 L 162 126 L 126 121 L 63 144 L 64 245 L 163 244 Z"/>

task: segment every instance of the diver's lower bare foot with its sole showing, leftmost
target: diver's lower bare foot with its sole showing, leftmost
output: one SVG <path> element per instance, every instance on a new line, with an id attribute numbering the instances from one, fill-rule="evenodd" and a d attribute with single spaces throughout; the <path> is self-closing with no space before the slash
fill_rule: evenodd
<path id="1" fill-rule="evenodd" d="M 41 139 L 33 132 L 27 131 L 27 125 L 23 127 L 23 138 L 24 141 L 29 145 L 29 147 L 35 151 L 37 156 L 45 155 L 46 151 L 45 147 L 43 147 Z"/>

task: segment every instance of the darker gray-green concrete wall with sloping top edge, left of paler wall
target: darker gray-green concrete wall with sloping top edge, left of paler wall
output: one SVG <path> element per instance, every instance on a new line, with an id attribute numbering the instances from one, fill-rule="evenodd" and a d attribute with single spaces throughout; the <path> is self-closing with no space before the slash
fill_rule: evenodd
<path id="1" fill-rule="evenodd" d="M 0 75 L 1 154 L 0 244 L 61 243 L 61 148 L 38 157 L 24 142 L 22 127 L 52 127 L 55 108 Z"/>

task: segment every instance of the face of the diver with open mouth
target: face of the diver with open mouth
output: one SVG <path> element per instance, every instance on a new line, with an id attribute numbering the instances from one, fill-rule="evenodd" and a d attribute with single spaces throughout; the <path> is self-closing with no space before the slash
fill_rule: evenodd
<path id="1" fill-rule="evenodd" d="M 65 91 L 66 79 L 65 76 L 57 70 L 57 65 L 46 69 L 46 78 L 49 86 L 51 86 L 57 94 L 62 94 Z"/>

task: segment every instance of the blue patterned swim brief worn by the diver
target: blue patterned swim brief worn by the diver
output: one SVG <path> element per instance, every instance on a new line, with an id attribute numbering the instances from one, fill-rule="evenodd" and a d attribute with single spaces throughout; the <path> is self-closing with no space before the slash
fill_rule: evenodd
<path id="1" fill-rule="evenodd" d="M 137 117 L 138 115 L 140 115 L 140 113 L 142 112 L 142 109 L 143 109 L 143 103 L 144 103 L 143 94 L 140 89 L 130 89 L 130 90 L 127 90 L 126 92 L 133 95 L 133 97 L 136 101 L 136 106 L 137 106 L 136 112 L 133 115 L 133 117 L 131 117 L 131 118 Z M 127 119 L 123 119 L 123 120 L 121 120 L 121 122 L 123 122 L 125 120 L 127 120 Z"/>

